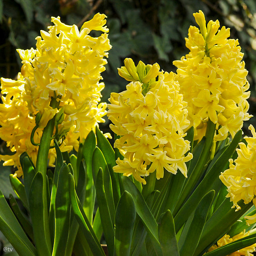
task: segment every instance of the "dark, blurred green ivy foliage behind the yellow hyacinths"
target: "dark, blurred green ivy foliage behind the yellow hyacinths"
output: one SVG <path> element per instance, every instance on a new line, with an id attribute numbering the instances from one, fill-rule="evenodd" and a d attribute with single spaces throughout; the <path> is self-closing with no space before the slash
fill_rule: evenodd
<path id="1" fill-rule="evenodd" d="M 109 64 L 102 75 L 102 92 L 107 101 L 111 91 L 122 91 L 127 84 L 117 74 L 125 57 L 175 71 L 172 61 L 188 53 L 184 38 L 190 25 L 196 25 L 193 13 L 201 9 L 206 21 L 219 20 L 231 28 L 244 52 L 251 84 L 250 113 L 256 106 L 256 1 L 254 0 L 0 0 L 0 76 L 15 78 L 21 63 L 16 48 L 35 47 L 41 29 L 51 25 L 51 16 L 61 16 L 66 24 L 82 23 L 97 12 L 105 13 L 109 39 Z M 95 33 L 97 35 L 97 33 Z M 250 123 L 256 124 L 254 118 Z M 245 124 L 247 127 L 249 124 Z M 107 122 L 102 129 L 107 129 Z M 246 129 L 245 129 L 246 131 Z"/>

